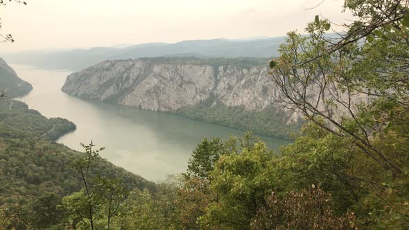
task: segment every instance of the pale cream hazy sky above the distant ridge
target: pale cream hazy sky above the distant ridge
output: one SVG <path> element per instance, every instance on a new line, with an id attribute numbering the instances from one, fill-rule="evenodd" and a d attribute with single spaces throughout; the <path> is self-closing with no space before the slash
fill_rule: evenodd
<path id="1" fill-rule="evenodd" d="M 187 39 L 274 37 L 304 32 L 314 15 L 336 22 L 343 0 L 25 0 L 0 6 L 3 28 L 16 42 L 0 52 L 179 42 Z"/>

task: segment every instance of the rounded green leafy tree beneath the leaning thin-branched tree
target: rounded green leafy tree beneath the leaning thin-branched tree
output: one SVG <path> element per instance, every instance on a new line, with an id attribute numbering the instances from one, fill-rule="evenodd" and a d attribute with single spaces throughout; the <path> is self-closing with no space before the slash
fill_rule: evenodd
<path id="1" fill-rule="evenodd" d="M 288 172 L 281 179 L 286 179 L 287 191 L 320 183 L 324 191 L 333 195 L 336 207 L 346 211 L 356 201 L 357 193 L 364 192 L 362 188 L 359 191 L 354 174 L 354 161 L 363 157 L 357 152 L 352 143 L 308 123 L 302 136 L 281 150 L 280 167 Z"/>

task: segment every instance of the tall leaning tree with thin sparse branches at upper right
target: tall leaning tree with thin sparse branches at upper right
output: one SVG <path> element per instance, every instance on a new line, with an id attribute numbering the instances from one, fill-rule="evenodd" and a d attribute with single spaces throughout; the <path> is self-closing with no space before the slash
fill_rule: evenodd
<path id="1" fill-rule="evenodd" d="M 408 109 L 408 1 L 347 0 L 345 9 L 358 19 L 343 25 L 344 34 L 327 35 L 331 23 L 318 16 L 308 37 L 288 33 L 270 64 L 277 100 L 397 177 L 401 166 L 376 148 L 372 134 L 393 125 L 390 112 Z"/>

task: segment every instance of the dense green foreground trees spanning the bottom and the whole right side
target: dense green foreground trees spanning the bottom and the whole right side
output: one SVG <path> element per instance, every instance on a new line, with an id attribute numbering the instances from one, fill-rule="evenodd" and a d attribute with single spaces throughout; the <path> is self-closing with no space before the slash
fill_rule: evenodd
<path id="1" fill-rule="evenodd" d="M 355 21 L 344 25 L 340 37 L 327 36 L 333 24 L 319 16 L 308 24 L 308 36 L 288 33 L 279 57 L 270 63 L 271 78 L 279 87 L 277 99 L 304 114 L 306 123 L 279 154 L 250 133 L 204 139 L 183 175 L 155 189 L 130 188 L 116 175 L 87 174 L 89 163 L 99 159 L 91 143 L 67 175 L 82 179 L 80 191 L 64 193 L 62 199 L 58 193 L 33 195 L 28 206 L 19 204 L 17 195 L 6 201 L 15 208 L 3 207 L 0 226 L 408 229 L 408 5 L 403 0 L 346 0 L 345 10 L 353 12 Z M 29 137 L 24 146 L 31 147 L 7 142 L 23 134 L 1 135 L 6 159 L 41 154 L 42 143 L 62 148 Z M 37 191 L 40 182 L 13 193 Z M 46 207 L 58 215 L 50 218 Z"/>

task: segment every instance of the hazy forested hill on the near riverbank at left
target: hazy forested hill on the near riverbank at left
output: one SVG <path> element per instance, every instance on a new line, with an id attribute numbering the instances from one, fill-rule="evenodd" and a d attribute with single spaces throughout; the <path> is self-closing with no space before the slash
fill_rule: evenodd
<path id="1" fill-rule="evenodd" d="M 0 100 L 0 209 L 27 204 L 46 193 L 80 190 L 72 163 L 82 153 L 51 141 L 73 129 L 75 125 L 63 118 L 46 118 L 17 100 Z M 96 168 L 93 174 L 121 178 L 130 188 L 154 186 L 105 159 L 98 159 Z"/>

